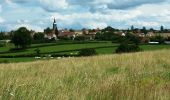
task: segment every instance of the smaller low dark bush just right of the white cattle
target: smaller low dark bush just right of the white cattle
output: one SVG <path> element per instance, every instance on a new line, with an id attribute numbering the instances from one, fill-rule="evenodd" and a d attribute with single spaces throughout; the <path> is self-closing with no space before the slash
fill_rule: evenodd
<path id="1" fill-rule="evenodd" d="M 80 50 L 79 52 L 79 56 L 93 56 L 93 55 L 96 55 L 97 52 L 95 49 L 93 48 L 90 48 L 90 49 L 82 49 Z"/>

